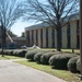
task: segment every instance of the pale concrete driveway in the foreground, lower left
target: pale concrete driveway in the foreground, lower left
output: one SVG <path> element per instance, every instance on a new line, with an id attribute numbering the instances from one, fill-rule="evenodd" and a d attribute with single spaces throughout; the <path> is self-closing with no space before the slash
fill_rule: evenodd
<path id="1" fill-rule="evenodd" d="M 48 73 L 19 65 L 12 60 L 0 60 L 0 82 L 66 82 Z"/>

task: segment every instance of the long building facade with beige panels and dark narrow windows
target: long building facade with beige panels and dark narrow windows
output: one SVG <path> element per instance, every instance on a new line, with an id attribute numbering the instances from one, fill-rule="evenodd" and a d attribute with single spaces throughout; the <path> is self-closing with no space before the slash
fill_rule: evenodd
<path id="1" fill-rule="evenodd" d="M 80 48 L 79 19 L 73 17 L 61 30 L 61 47 L 62 48 Z M 57 47 L 57 32 L 49 25 L 42 23 L 25 28 L 26 45 L 39 46 L 42 48 Z"/>

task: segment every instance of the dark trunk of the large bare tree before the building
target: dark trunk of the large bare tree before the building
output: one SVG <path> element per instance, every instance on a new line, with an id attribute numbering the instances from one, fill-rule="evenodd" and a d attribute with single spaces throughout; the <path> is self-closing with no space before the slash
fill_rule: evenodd
<path id="1" fill-rule="evenodd" d="M 61 51 L 61 27 L 57 28 L 57 50 Z"/>

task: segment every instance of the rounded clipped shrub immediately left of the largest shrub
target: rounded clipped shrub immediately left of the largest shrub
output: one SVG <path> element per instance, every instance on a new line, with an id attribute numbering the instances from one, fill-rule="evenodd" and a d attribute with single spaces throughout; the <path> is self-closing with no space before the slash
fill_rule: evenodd
<path id="1" fill-rule="evenodd" d="M 49 58 L 52 56 L 52 55 L 55 55 L 56 52 L 45 52 L 45 54 L 43 54 L 42 55 L 42 57 L 40 57 L 40 62 L 43 63 L 43 65 L 48 65 L 49 62 Z"/>

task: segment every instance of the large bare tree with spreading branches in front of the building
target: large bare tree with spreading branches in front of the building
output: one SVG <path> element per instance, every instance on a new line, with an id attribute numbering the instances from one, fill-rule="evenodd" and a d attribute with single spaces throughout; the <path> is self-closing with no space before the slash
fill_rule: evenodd
<path id="1" fill-rule="evenodd" d="M 61 27 L 79 12 L 79 0 L 26 0 L 25 19 L 48 23 L 57 31 L 57 50 L 61 50 Z"/>

